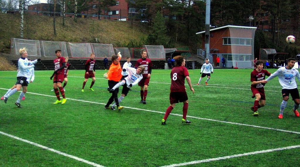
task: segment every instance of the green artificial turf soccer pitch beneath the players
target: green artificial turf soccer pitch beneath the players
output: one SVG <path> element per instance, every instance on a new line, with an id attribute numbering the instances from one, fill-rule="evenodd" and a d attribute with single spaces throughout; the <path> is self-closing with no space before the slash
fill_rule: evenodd
<path id="1" fill-rule="evenodd" d="M 81 92 L 84 71 L 70 70 L 64 105 L 52 104 L 53 72 L 35 71 L 22 108 L 14 104 L 18 92 L 7 104 L 1 101 L 0 166 L 300 166 L 293 101 L 278 119 L 282 97 L 275 78 L 265 86 L 266 106 L 253 117 L 251 71 L 214 69 L 208 86 L 205 79 L 196 86 L 200 70 L 189 70 L 192 123 L 181 123 L 179 103 L 166 125 L 161 119 L 170 102 L 170 70 L 152 71 L 146 105 L 135 86 L 121 111 L 104 109 L 111 95 L 104 70 L 96 71 L 94 92 L 88 90 L 91 79 Z M 16 82 L 16 71 L 1 71 L 0 79 L 2 96 Z"/>

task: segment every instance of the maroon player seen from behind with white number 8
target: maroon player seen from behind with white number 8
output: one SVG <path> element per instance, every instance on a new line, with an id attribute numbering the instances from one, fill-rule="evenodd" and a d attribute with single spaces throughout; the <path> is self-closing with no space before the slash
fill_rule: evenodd
<path id="1" fill-rule="evenodd" d="M 191 122 L 186 119 L 187 116 L 187 93 L 186 88 L 184 86 L 184 79 L 187 80 L 188 85 L 190 86 L 190 90 L 194 94 L 194 89 L 190 82 L 189 73 L 187 68 L 185 68 L 185 60 L 182 56 L 175 56 L 175 67 L 171 71 L 171 88 L 170 88 L 170 106 L 168 107 L 164 118 L 161 120 L 161 124 L 166 124 L 167 118 L 173 108 L 175 107 L 175 103 L 183 102 L 183 116 L 182 123 L 190 124 Z"/>

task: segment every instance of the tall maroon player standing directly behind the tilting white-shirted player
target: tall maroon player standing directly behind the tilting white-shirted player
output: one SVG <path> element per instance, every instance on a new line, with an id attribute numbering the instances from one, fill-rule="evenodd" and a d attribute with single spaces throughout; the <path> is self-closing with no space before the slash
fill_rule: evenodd
<path id="1" fill-rule="evenodd" d="M 135 68 L 137 68 L 139 66 L 145 67 L 145 70 L 143 73 L 143 79 L 139 82 L 139 86 L 141 87 L 140 103 L 146 104 L 146 97 L 148 94 L 148 86 L 149 86 L 150 75 L 151 75 L 151 71 L 152 71 L 152 62 L 149 58 L 147 58 L 146 50 L 142 50 L 141 56 L 142 56 L 142 58 L 137 60 L 137 63 L 135 64 Z"/>

